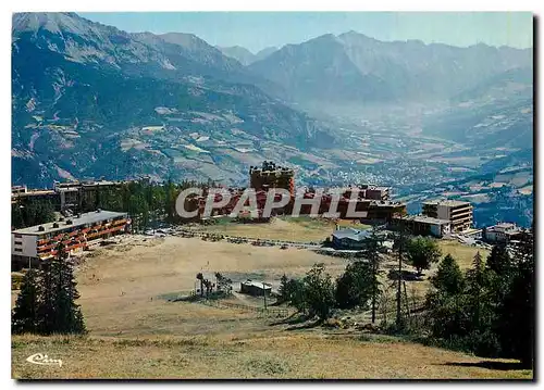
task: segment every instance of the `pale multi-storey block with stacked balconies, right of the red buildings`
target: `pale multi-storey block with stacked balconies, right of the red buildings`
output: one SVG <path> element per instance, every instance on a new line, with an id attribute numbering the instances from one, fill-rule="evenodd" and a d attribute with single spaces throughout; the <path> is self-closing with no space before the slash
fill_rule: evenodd
<path id="1" fill-rule="evenodd" d="M 472 227 L 472 204 L 458 200 L 423 202 L 423 215 L 452 223 L 452 231 L 465 231 Z"/>

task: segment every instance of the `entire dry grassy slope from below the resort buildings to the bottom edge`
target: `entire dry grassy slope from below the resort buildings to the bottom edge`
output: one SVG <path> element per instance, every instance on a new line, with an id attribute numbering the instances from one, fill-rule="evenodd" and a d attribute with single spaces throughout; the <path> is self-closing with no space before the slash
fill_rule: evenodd
<path id="1" fill-rule="evenodd" d="M 481 366 L 482 358 L 398 339 L 361 340 L 360 332 L 287 330 L 252 312 L 165 302 L 162 294 L 193 288 L 199 271 L 259 274 L 274 280 L 302 275 L 324 261 L 338 274 L 342 259 L 306 250 L 127 238 L 101 249 L 77 272 L 88 338 L 15 336 L 16 378 L 528 378 L 530 372 Z M 446 244 L 444 244 L 446 246 Z M 443 248 L 444 249 L 444 248 Z M 446 249 L 461 265 L 475 250 Z M 160 256 L 158 256 L 158 253 Z M 462 260 L 460 259 L 462 257 Z M 418 284 L 423 287 L 424 282 Z M 410 287 L 409 287 L 410 290 Z M 15 294 L 12 295 L 13 301 Z M 25 362 L 30 354 L 62 358 L 62 368 Z"/>

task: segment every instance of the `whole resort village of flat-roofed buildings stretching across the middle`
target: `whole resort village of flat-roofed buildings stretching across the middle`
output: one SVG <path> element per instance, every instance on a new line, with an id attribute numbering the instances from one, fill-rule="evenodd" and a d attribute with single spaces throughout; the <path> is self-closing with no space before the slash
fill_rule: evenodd
<path id="1" fill-rule="evenodd" d="M 199 197 L 193 196 L 186 200 L 188 210 L 198 211 L 195 218 L 184 219 L 177 217 L 180 226 L 195 223 L 200 224 L 214 223 L 218 218 L 230 218 L 231 223 L 270 223 L 271 218 L 262 218 L 264 209 L 265 193 L 269 189 L 283 188 L 290 193 L 289 202 L 280 209 L 274 210 L 275 217 L 289 215 L 295 201 L 295 174 L 290 168 L 274 164 L 273 162 L 263 162 L 262 166 L 251 166 L 248 173 L 249 188 L 257 190 L 257 207 L 259 217 L 252 218 L 249 212 L 242 211 L 239 215 L 232 216 L 233 209 L 238 201 L 244 188 L 226 188 L 226 191 L 233 194 L 230 202 L 219 209 L 212 210 L 210 218 L 202 218 L 207 192 L 212 187 L 202 186 L 203 193 Z M 149 231 L 150 228 L 157 229 L 164 227 L 168 223 L 169 214 L 165 209 L 175 209 L 177 193 L 170 198 L 172 204 L 160 204 L 159 210 L 146 210 L 144 212 L 129 215 L 128 211 L 134 210 L 136 204 L 128 204 L 119 207 L 116 211 L 106 211 L 101 207 L 108 205 L 113 193 L 121 193 L 122 188 L 129 188 L 132 185 L 147 186 L 152 193 L 153 188 L 165 188 L 175 184 L 152 183 L 149 179 L 140 181 L 69 181 L 55 183 L 51 189 L 28 190 L 26 186 L 12 188 L 12 221 L 25 225 L 26 210 L 36 210 L 40 205 L 48 207 L 47 214 L 50 221 L 41 221 L 39 225 L 13 227 L 12 232 L 12 260 L 21 264 L 28 264 L 32 261 L 47 260 L 53 257 L 59 242 L 70 236 L 65 250 L 71 254 L 85 251 L 110 237 L 118 234 L 133 231 L 131 224 L 134 218 L 137 223 L 136 229 L 139 231 Z M 348 204 L 354 201 L 351 190 L 357 189 L 358 198 L 355 199 L 354 210 L 357 212 L 367 212 L 363 218 L 353 219 L 353 225 L 372 225 L 385 226 L 387 229 L 397 230 L 404 228 L 413 235 L 432 236 L 435 238 L 455 239 L 460 243 L 478 248 L 487 248 L 494 243 L 517 243 L 526 229 L 517 226 L 515 223 L 502 222 L 493 226 L 485 226 L 477 229 L 473 227 L 473 205 L 470 202 L 458 200 L 438 199 L 423 203 L 421 214 L 407 214 L 406 203 L 393 201 L 390 197 L 390 188 L 375 185 L 358 185 L 345 188 L 338 199 L 338 217 L 333 221 L 346 219 Z M 305 189 L 304 198 L 313 196 L 316 189 Z M 260 194 L 263 194 L 260 196 Z M 322 194 L 322 202 L 319 207 L 319 215 L 325 217 L 331 207 L 332 196 L 326 191 Z M 137 203 L 137 200 L 136 202 Z M 120 204 L 121 205 L 121 204 Z M 148 207 L 152 207 L 148 204 Z M 124 210 L 121 210 L 124 209 Z M 163 210 L 161 210 L 163 209 Z M 305 204 L 300 207 L 300 215 L 309 215 L 311 205 Z M 147 215 L 143 215 L 147 214 Z M 151 216 L 152 215 L 152 216 Z M 40 218 L 41 216 L 34 216 Z M 171 218 L 175 218 L 170 213 Z M 358 221 L 357 221 L 358 219 Z M 171 228 L 169 226 L 168 228 Z M 331 237 L 323 237 L 323 244 L 330 242 L 337 250 L 342 249 L 362 249 L 363 240 L 361 229 L 348 227 L 346 229 L 336 226 L 331 231 Z"/>

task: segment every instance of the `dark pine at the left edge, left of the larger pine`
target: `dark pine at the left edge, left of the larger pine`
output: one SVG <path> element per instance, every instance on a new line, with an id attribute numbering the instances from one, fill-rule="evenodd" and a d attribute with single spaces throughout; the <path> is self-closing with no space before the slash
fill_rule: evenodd
<path id="1" fill-rule="evenodd" d="M 37 269 L 28 269 L 11 317 L 12 332 L 35 334 L 38 330 L 39 276 Z"/>

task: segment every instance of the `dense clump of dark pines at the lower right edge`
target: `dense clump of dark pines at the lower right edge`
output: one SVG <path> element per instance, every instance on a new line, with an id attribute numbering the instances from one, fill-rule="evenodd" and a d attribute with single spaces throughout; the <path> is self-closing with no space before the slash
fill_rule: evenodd
<path id="1" fill-rule="evenodd" d="M 436 291 L 428 295 L 431 330 L 435 338 L 479 356 L 519 358 L 533 367 L 534 350 L 534 247 L 523 237 L 510 257 L 495 247 L 483 264 L 480 253 L 461 277 L 453 259 L 444 259 Z"/>

